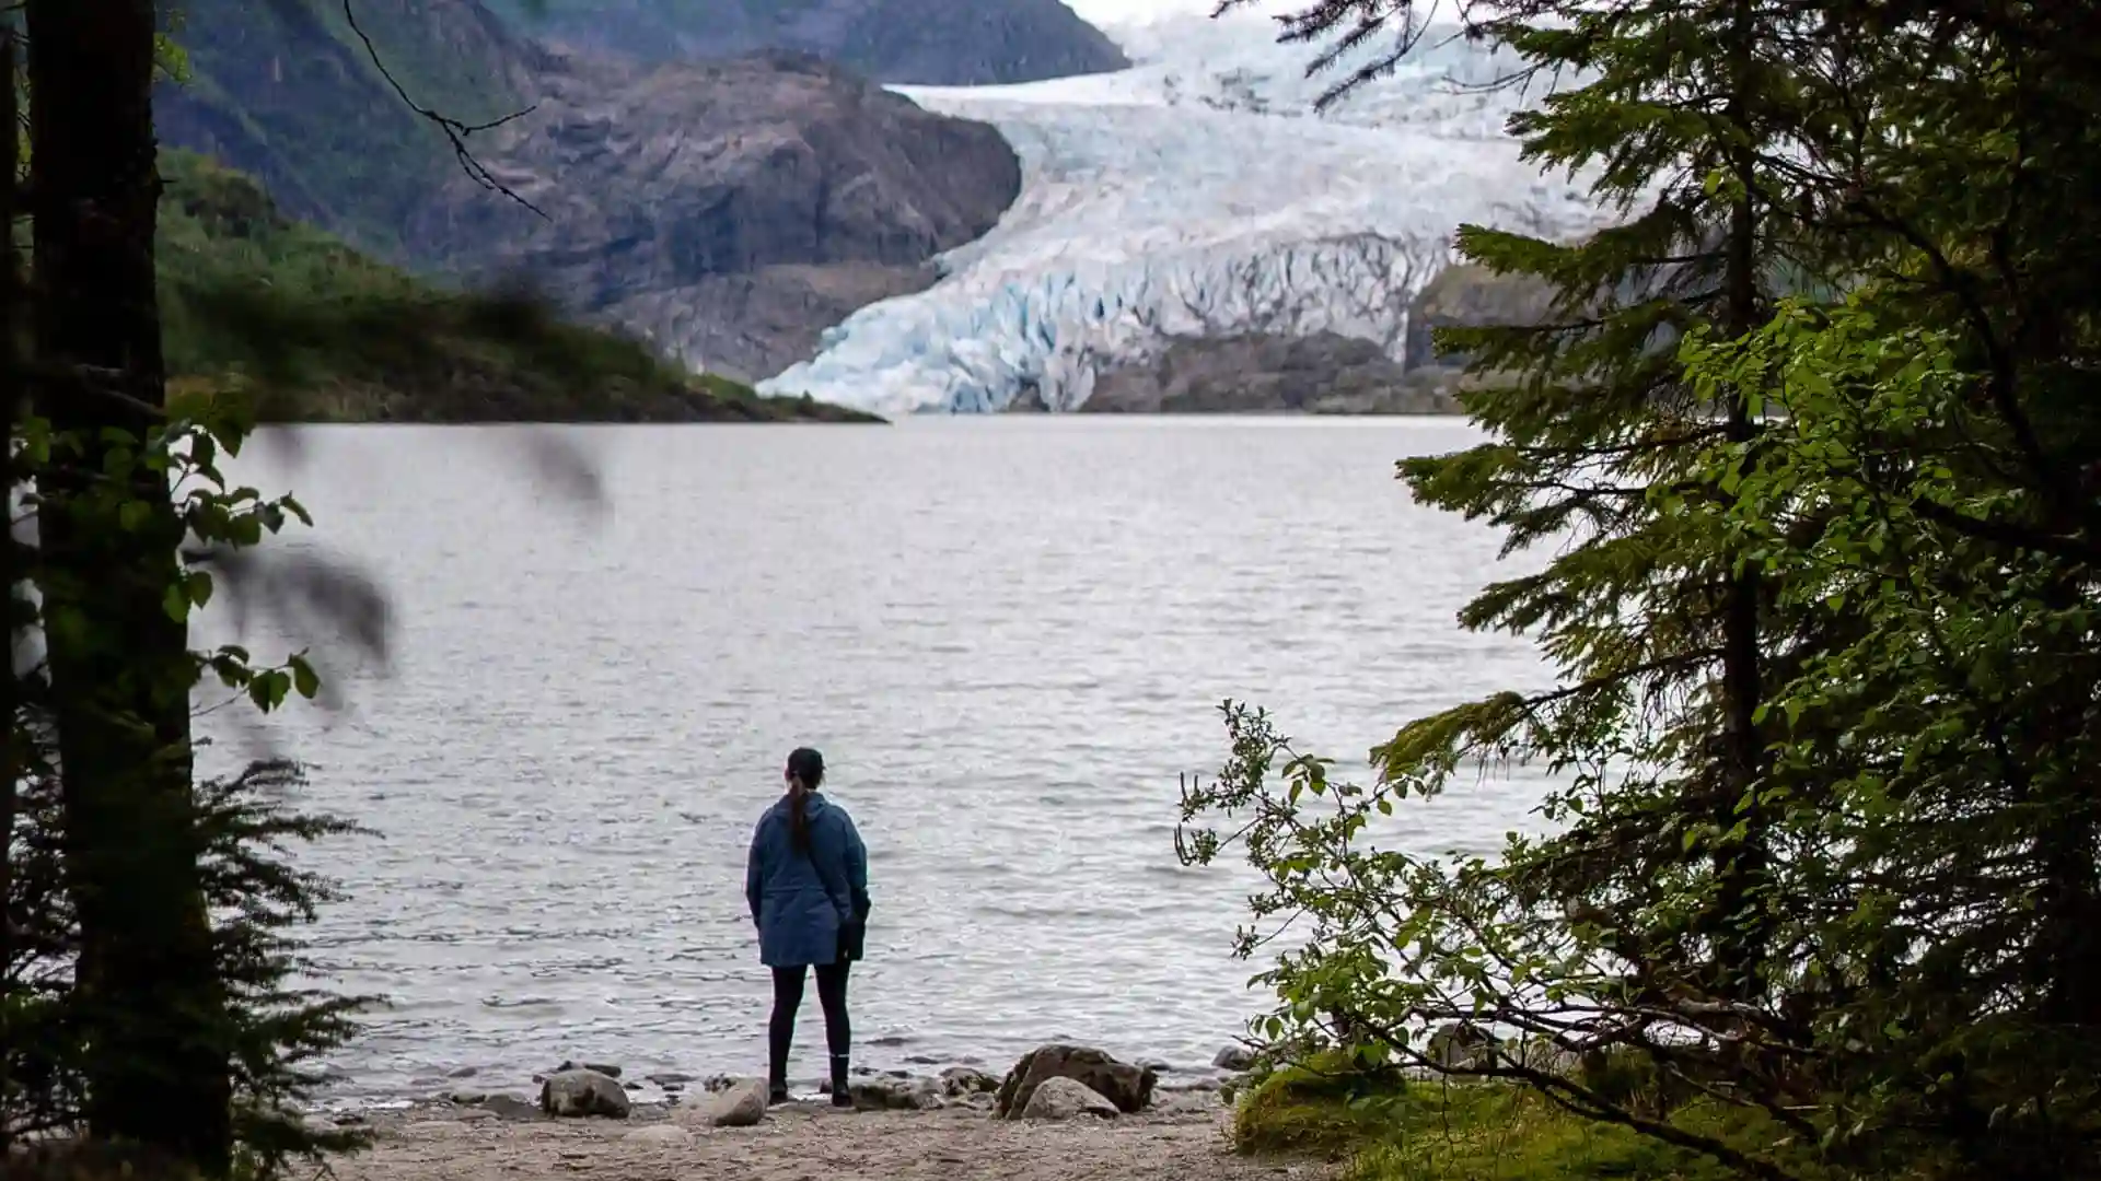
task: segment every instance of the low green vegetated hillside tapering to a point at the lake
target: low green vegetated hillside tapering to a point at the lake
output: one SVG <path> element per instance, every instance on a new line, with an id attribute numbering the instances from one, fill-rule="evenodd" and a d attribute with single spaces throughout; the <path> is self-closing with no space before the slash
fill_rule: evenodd
<path id="1" fill-rule="evenodd" d="M 719 422 L 868 414 L 693 376 L 527 294 L 462 294 L 277 210 L 252 179 L 164 153 L 170 380 L 233 382 L 265 420 Z"/>

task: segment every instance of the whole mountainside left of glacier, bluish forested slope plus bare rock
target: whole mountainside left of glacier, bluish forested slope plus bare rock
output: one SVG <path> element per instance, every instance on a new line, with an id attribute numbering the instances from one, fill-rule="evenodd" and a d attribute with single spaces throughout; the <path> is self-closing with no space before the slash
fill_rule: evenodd
<path id="1" fill-rule="evenodd" d="M 1019 191 L 994 128 L 809 57 L 649 65 L 548 50 L 481 0 L 349 4 L 185 0 L 191 71 L 155 97 L 162 143 L 412 271 L 525 277 L 740 380 L 931 284 L 924 263 Z M 460 124 L 500 122 L 464 143 L 546 216 L 464 174 L 395 84 Z"/>

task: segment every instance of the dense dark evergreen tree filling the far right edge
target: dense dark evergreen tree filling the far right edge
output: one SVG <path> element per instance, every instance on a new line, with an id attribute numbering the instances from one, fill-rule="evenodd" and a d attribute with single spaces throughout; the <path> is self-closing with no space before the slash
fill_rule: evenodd
<path id="1" fill-rule="evenodd" d="M 1819 855 L 1813 1034 L 1851 1126 L 1952 1168 L 2097 1166 L 2095 15 L 1834 4 L 1876 46 L 1819 153 L 1843 307 L 1698 368 L 1786 412 L 1740 525 L 1847 643 L 1775 685 Z M 1918 1131 L 1931 1131 L 1920 1137 Z M 1882 1135 L 1887 1133 L 1887 1135 Z M 1922 1143 L 1925 1141 L 1925 1143 Z M 1861 1147 L 1868 1147 L 1864 1143 Z"/>

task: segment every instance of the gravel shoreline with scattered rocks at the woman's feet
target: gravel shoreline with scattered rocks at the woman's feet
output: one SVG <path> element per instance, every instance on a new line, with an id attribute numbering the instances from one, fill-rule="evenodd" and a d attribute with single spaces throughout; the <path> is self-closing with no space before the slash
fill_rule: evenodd
<path id="1" fill-rule="evenodd" d="M 1303 1166 L 1231 1152 L 1229 1076 L 1126 1063 L 1086 1047 L 1044 1044 L 1004 1076 L 971 1065 L 939 1074 L 859 1070 L 853 1105 L 815 1086 L 769 1107 L 752 1078 L 651 1074 L 563 1061 L 536 1097 L 483 1091 L 456 1070 L 448 1093 L 401 1107 L 311 1114 L 363 1126 L 370 1152 L 334 1164 L 340 1181 L 515 1181 L 567 1173 L 620 1181 L 735 1177 L 819 1181 L 1000 1177 L 1019 1181 L 1250 1181 Z M 643 1089 L 658 1095 L 643 1097 Z"/>

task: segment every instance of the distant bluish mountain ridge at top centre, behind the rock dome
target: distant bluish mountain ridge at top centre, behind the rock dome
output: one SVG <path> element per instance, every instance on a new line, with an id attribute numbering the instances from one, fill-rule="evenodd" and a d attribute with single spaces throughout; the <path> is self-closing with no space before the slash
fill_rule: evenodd
<path id="1" fill-rule="evenodd" d="M 1059 0 L 498 0 L 534 36 L 647 61 L 790 48 L 878 82 L 977 86 L 1128 65 Z"/>

